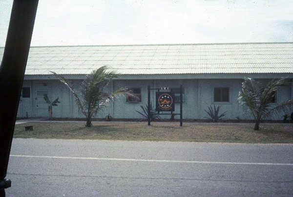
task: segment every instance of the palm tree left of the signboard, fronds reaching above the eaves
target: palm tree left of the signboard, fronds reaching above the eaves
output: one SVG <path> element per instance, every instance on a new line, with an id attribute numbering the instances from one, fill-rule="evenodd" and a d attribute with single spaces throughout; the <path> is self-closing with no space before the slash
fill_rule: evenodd
<path id="1" fill-rule="evenodd" d="M 114 101 L 120 96 L 133 96 L 126 88 L 121 88 L 111 94 L 104 92 L 104 88 L 113 78 L 117 78 L 119 74 L 108 71 L 106 66 L 103 66 L 90 74 L 86 75 L 81 85 L 81 93 L 78 94 L 74 89 L 71 81 L 65 79 L 62 75 L 52 72 L 56 77 L 65 84 L 75 97 L 79 112 L 86 117 L 85 126 L 92 126 L 92 117 L 96 115 L 106 104 Z"/>

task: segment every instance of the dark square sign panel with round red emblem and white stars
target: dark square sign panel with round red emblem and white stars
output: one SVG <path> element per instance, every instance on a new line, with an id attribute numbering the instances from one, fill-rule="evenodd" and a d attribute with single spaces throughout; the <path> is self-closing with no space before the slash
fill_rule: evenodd
<path id="1" fill-rule="evenodd" d="M 174 111 L 173 92 L 156 92 L 157 111 Z"/>

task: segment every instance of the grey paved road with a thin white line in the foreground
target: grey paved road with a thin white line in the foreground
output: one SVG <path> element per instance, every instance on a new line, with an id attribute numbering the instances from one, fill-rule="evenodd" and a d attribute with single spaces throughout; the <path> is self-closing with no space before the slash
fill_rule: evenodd
<path id="1" fill-rule="evenodd" d="M 293 144 L 14 139 L 18 196 L 293 196 Z"/>

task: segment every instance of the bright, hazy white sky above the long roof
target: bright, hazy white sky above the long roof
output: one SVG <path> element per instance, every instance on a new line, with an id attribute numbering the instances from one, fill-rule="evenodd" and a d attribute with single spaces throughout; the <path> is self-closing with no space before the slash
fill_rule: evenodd
<path id="1" fill-rule="evenodd" d="M 31 46 L 292 41 L 293 0 L 39 0 Z"/>

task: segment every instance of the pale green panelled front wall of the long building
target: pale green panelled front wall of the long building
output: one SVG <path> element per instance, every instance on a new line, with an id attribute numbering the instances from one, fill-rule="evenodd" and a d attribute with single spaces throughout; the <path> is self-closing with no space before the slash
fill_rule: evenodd
<path id="1" fill-rule="evenodd" d="M 80 90 L 82 80 L 73 80 L 76 90 Z M 142 102 L 127 103 L 126 98 L 120 98 L 113 104 L 109 104 L 105 110 L 97 116 L 97 118 L 105 118 L 109 113 L 113 118 L 141 118 L 135 111 L 141 111 L 141 105 L 147 103 L 147 85 L 151 88 L 175 87 L 179 88 L 182 84 L 184 87 L 185 102 L 183 103 L 184 119 L 205 119 L 211 105 L 221 105 L 221 111 L 227 111 L 226 119 L 252 119 L 245 107 L 239 106 L 237 102 L 238 92 L 241 89 L 242 79 L 174 79 L 174 80 L 114 80 L 105 91 L 112 92 L 123 87 L 142 88 Z M 264 80 L 265 81 L 265 80 Z M 50 100 L 59 97 L 61 102 L 57 107 L 53 107 L 53 116 L 57 118 L 84 118 L 84 115 L 78 113 L 78 107 L 75 104 L 75 98 L 68 88 L 57 80 L 25 80 L 23 87 L 31 88 L 31 98 L 21 98 L 18 117 L 25 117 L 26 111 L 29 117 L 38 117 L 36 114 L 36 87 L 40 83 L 46 83 L 48 87 L 48 96 Z M 215 87 L 228 87 L 230 90 L 230 102 L 214 103 L 213 89 Z M 281 87 L 277 91 L 277 103 L 281 103 L 291 99 L 291 86 Z M 151 90 L 151 101 L 155 107 L 154 90 Z M 179 113 L 179 104 L 175 104 L 175 113 Z M 49 113 L 46 114 L 49 116 Z M 161 116 L 162 118 L 170 118 L 170 116 Z M 179 115 L 175 118 L 179 118 Z M 282 117 L 274 117 L 275 120 L 281 120 Z"/>

